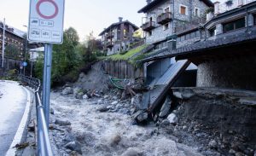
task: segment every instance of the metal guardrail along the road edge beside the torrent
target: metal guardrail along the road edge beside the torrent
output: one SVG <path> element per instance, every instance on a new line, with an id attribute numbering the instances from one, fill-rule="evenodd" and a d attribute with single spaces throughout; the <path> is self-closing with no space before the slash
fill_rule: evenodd
<path id="1" fill-rule="evenodd" d="M 38 78 L 19 76 L 20 81 L 35 90 L 38 123 L 38 156 L 53 156 L 49 142 L 49 132 L 44 115 L 44 106 L 41 101 L 41 83 Z"/>

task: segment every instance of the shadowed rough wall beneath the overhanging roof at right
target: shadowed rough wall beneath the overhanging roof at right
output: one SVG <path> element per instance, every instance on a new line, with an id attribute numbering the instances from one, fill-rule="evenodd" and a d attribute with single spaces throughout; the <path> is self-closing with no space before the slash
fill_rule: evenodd
<path id="1" fill-rule="evenodd" d="M 209 61 L 198 66 L 198 87 L 256 90 L 256 56 Z"/>

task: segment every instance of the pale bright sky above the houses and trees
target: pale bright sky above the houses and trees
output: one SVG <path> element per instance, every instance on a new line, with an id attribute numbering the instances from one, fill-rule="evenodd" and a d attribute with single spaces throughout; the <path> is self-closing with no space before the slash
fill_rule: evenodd
<path id="1" fill-rule="evenodd" d="M 26 32 L 29 0 L 0 0 L 0 4 L 0 20 L 5 17 L 9 26 Z M 73 26 L 82 41 L 91 31 L 97 36 L 119 16 L 141 26 L 143 14 L 137 10 L 145 4 L 146 0 L 66 0 L 64 27 Z"/>

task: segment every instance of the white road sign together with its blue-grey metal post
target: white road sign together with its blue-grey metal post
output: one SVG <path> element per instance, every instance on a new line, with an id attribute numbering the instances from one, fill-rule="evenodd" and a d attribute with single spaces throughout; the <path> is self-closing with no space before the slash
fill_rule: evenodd
<path id="1" fill-rule="evenodd" d="M 65 0 L 30 0 L 28 41 L 44 43 L 43 105 L 49 128 L 49 95 L 53 43 L 63 41 Z"/>

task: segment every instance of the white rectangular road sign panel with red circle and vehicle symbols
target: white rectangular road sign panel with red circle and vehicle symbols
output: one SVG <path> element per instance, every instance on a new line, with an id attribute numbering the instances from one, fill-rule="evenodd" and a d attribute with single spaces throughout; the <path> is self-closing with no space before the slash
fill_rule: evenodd
<path id="1" fill-rule="evenodd" d="M 62 43 L 65 0 L 30 0 L 27 39 L 38 43 Z"/>

